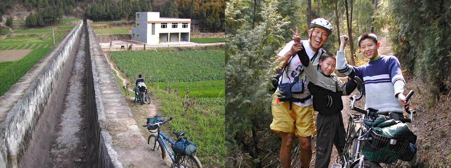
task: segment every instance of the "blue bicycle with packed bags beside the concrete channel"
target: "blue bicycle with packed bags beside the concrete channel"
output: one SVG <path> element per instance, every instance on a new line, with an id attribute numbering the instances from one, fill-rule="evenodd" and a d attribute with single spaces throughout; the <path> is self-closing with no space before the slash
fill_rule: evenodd
<path id="1" fill-rule="evenodd" d="M 172 134 L 177 136 L 177 141 L 174 142 L 169 137 L 163 134 L 161 132 L 160 127 L 163 124 L 166 124 L 167 122 L 172 120 L 172 117 L 170 117 L 167 120 L 161 119 L 160 116 L 150 116 L 147 118 L 148 124 L 143 125 L 143 127 L 147 127 L 150 135 L 147 140 L 147 143 L 152 146 L 153 145 L 153 151 L 161 151 L 161 158 L 166 158 L 166 152 L 169 154 L 169 157 L 172 160 L 171 168 L 202 168 L 202 164 L 199 161 L 199 159 L 195 155 L 195 151 L 193 152 L 184 152 L 177 150 L 179 149 L 179 145 L 181 140 L 186 140 L 185 142 L 188 142 L 186 138 L 183 138 L 185 135 L 184 132 L 172 132 Z M 155 134 L 157 133 L 157 134 Z M 169 148 L 165 142 L 168 142 L 171 145 L 171 148 Z M 189 141 L 192 143 L 191 141 Z M 177 143 L 177 145 L 176 145 Z M 185 147 L 188 148 L 188 147 Z M 196 147 L 197 149 L 197 147 Z"/>

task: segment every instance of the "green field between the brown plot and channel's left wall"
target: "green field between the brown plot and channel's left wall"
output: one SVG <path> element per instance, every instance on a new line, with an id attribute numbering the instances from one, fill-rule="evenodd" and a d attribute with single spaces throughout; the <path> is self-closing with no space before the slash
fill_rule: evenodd
<path id="1" fill-rule="evenodd" d="M 13 84 L 19 81 L 49 51 L 50 48 L 33 49 L 33 51 L 19 61 L 0 63 L 0 95 L 8 91 Z"/>

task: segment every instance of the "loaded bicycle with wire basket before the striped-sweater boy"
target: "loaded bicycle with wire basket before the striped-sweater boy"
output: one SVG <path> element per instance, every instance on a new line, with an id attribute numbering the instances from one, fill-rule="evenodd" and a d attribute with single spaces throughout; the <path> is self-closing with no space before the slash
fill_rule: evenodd
<path id="1" fill-rule="evenodd" d="M 346 144 L 343 153 L 337 158 L 337 162 L 332 165 L 332 168 L 392 167 L 394 163 L 399 163 L 399 159 L 409 156 L 409 154 L 412 154 L 413 156 L 414 153 L 408 153 L 412 148 L 412 141 L 410 139 L 412 139 L 411 135 L 413 135 L 413 133 L 410 132 L 410 130 L 405 134 L 409 137 L 400 136 L 393 138 L 386 134 L 382 134 L 380 128 L 373 126 L 375 123 L 382 125 L 382 122 L 380 122 L 381 120 L 387 121 L 385 123 L 391 122 L 392 124 L 398 124 L 399 121 L 402 123 L 410 123 L 413 121 L 415 110 L 406 107 L 405 110 L 410 113 L 410 118 L 404 118 L 402 114 L 398 113 L 378 115 L 376 114 L 378 111 L 377 109 L 368 108 L 364 110 L 355 106 L 356 101 L 360 100 L 363 95 L 365 95 L 365 87 L 362 80 L 359 77 L 356 77 L 356 80 L 360 95 L 358 97 L 356 95 L 350 97 L 352 100 L 350 106 L 352 110 L 359 113 L 350 114 L 349 116 L 346 130 Z M 413 90 L 410 90 L 406 96 L 407 101 L 409 101 L 412 95 Z M 416 136 L 413 136 L 416 140 Z"/>

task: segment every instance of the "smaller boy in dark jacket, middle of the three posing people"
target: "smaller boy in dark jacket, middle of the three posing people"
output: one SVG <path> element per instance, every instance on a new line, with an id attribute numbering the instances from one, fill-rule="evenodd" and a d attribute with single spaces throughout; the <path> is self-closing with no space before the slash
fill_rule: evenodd
<path id="1" fill-rule="evenodd" d="M 294 45 L 301 45 L 297 33 L 294 39 Z M 309 81 L 308 89 L 313 97 L 313 108 L 318 111 L 315 168 L 327 168 L 332 154 L 332 145 L 335 145 L 341 155 L 346 141 L 341 114 L 343 109 L 341 96 L 350 94 L 357 84 L 352 81 L 342 82 L 334 74 L 336 58 L 333 54 L 324 53 L 320 56 L 320 71 L 316 70 L 316 66 L 311 65 L 303 47 L 298 52 L 298 56 Z"/>

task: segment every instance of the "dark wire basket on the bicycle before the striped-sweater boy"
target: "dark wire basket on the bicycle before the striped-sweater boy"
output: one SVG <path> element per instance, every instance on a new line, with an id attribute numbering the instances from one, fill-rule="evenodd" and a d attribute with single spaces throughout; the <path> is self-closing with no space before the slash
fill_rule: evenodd
<path id="1" fill-rule="evenodd" d="M 409 142 L 405 139 L 399 139 L 395 145 L 390 145 L 390 138 L 377 134 L 373 129 L 369 131 L 368 137 L 373 139 L 363 142 L 362 152 L 371 162 L 394 163 L 409 147 Z"/>

